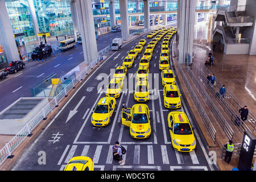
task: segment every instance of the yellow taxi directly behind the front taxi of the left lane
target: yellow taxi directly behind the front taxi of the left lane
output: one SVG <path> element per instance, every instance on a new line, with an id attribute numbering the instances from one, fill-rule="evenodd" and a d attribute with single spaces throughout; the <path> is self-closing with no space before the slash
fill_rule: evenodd
<path id="1" fill-rule="evenodd" d="M 123 79 L 122 78 L 112 78 L 109 82 L 109 85 L 106 89 L 107 97 L 120 97 L 123 88 Z"/>

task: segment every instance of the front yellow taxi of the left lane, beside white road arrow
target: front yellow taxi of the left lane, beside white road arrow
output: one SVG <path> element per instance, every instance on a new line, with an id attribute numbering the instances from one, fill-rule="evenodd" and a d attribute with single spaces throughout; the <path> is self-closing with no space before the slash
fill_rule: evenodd
<path id="1" fill-rule="evenodd" d="M 108 125 L 110 118 L 114 113 L 115 104 L 117 104 L 117 101 L 115 101 L 115 98 L 102 97 L 100 101 L 98 101 L 98 104 L 93 110 L 92 117 L 90 118 L 92 125 L 93 126 Z"/>

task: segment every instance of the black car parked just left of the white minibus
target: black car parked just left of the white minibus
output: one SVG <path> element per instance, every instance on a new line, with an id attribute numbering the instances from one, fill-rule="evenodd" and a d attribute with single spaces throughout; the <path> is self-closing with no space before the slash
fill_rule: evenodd
<path id="1" fill-rule="evenodd" d="M 36 47 L 31 55 L 32 60 L 39 59 L 42 60 L 46 56 L 51 56 L 52 47 L 48 44 L 42 44 Z"/>

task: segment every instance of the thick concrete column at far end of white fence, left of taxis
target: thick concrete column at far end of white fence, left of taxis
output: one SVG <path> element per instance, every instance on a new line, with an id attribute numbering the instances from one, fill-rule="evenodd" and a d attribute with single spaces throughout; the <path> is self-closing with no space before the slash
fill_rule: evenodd
<path id="1" fill-rule="evenodd" d="M 86 64 L 92 63 L 98 57 L 96 34 L 94 28 L 92 1 L 73 0 L 79 18 L 80 33 L 82 36 L 82 50 Z"/>

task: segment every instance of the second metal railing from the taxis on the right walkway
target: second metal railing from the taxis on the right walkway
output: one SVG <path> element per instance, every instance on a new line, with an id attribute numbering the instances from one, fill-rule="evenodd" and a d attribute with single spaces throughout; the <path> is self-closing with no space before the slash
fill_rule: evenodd
<path id="1" fill-rule="evenodd" d="M 189 66 L 185 67 L 187 74 L 189 75 L 189 77 L 191 78 L 191 80 L 193 81 L 193 83 L 196 85 L 196 88 L 198 89 L 199 93 L 201 94 L 201 96 L 204 98 L 205 102 L 207 103 L 207 105 L 209 106 L 210 110 L 212 111 L 212 113 L 214 114 L 214 116 L 216 117 L 218 123 L 220 124 L 220 126 L 222 127 L 224 133 L 226 134 L 226 136 L 230 139 L 233 140 L 234 137 L 234 131 L 232 130 L 232 127 L 229 125 L 229 123 L 226 121 L 226 119 L 224 118 L 224 116 L 221 114 L 220 110 L 218 110 L 218 107 L 214 104 L 214 102 L 212 101 L 212 99 L 209 97 L 208 93 L 206 92 L 204 85 L 203 85 L 203 80 L 199 80 L 199 78 L 197 78 L 195 76 L 195 74 L 191 71 L 191 68 L 189 68 Z M 209 82 L 207 82 L 207 84 L 210 84 Z"/>

